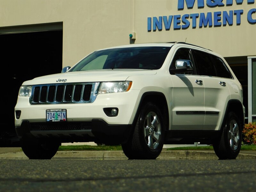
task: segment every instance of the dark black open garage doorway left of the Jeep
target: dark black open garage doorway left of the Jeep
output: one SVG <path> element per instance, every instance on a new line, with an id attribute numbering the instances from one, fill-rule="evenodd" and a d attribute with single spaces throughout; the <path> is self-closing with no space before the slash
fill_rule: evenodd
<path id="1" fill-rule="evenodd" d="M 20 85 L 61 72 L 62 30 L 0 34 L 0 42 L 0 146 L 17 146 L 14 107 Z"/>

